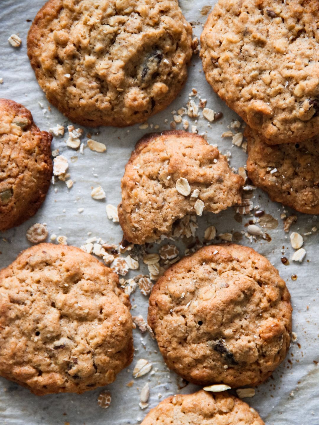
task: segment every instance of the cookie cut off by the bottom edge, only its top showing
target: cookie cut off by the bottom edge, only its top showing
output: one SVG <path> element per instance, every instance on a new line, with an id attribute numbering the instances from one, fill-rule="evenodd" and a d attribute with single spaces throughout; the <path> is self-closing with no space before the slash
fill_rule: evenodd
<path id="1" fill-rule="evenodd" d="M 265 425 L 259 414 L 228 394 L 208 393 L 168 397 L 152 409 L 141 425 Z"/>

